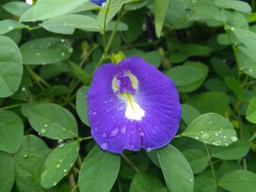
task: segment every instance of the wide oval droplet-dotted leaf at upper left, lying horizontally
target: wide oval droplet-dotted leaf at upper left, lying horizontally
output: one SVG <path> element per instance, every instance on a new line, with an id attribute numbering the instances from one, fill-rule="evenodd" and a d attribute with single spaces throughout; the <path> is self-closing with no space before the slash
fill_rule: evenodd
<path id="1" fill-rule="evenodd" d="M 45 37 L 21 45 L 24 64 L 53 64 L 70 57 L 72 47 L 64 39 Z"/>

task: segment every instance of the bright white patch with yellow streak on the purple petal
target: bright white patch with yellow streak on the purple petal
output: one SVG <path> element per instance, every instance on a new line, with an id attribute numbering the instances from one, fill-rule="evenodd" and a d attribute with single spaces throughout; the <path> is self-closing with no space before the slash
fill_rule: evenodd
<path id="1" fill-rule="evenodd" d="M 127 110 L 125 111 L 125 117 L 132 120 L 141 120 L 145 116 L 145 111 L 134 101 L 132 96 L 128 97 L 129 99 L 126 99 Z"/>

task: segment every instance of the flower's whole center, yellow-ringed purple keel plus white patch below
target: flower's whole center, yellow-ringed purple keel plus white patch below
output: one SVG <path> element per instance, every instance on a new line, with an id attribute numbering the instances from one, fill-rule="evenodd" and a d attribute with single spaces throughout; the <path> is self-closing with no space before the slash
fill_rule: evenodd
<path id="1" fill-rule="evenodd" d="M 141 120 L 145 116 L 145 111 L 135 101 L 135 93 L 138 89 L 138 80 L 130 72 L 118 72 L 112 81 L 112 89 L 118 97 L 127 104 L 125 116 L 132 120 Z"/>

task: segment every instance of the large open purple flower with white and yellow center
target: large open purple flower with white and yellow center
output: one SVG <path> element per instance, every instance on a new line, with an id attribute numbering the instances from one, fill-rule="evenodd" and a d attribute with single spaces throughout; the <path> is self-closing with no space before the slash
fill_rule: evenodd
<path id="1" fill-rule="evenodd" d="M 173 80 L 137 56 L 100 66 L 87 97 L 91 135 L 103 150 L 152 150 L 178 131 L 181 104 Z"/>

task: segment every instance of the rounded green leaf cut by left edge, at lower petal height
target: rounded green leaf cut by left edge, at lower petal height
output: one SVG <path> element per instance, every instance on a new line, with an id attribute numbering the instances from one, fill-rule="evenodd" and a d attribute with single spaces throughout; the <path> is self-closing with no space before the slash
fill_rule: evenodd
<path id="1" fill-rule="evenodd" d="M 23 122 L 14 112 L 0 110 L 0 150 L 15 153 L 23 139 Z"/>

